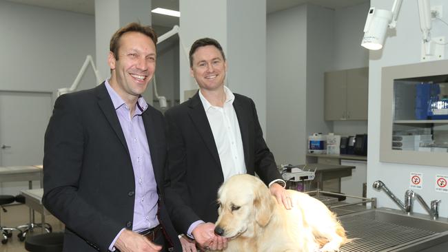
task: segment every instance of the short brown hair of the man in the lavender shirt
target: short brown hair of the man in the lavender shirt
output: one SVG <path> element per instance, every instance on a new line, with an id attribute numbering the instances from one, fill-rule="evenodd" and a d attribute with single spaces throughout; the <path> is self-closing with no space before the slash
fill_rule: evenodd
<path id="1" fill-rule="evenodd" d="M 152 30 L 151 26 L 149 25 L 141 25 L 140 23 L 129 23 L 126 26 L 123 26 L 119 30 L 117 30 L 114 35 L 112 35 L 112 38 L 110 39 L 110 45 L 109 50 L 112 52 L 115 56 L 115 59 L 119 60 L 119 48 L 120 48 L 120 39 L 123 34 L 127 32 L 140 32 L 141 34 L 144 34 L 146 36 L 149 36 L 150 39 L 154 42 L 154 45 L 157 45 L 157 34 Z"/>

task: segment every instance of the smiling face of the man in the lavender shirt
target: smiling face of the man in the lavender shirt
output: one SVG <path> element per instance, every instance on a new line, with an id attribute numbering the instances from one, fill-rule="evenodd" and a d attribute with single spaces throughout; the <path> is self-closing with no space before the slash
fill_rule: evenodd
<path id="1" fill-rule="evenodd" d="M 127 32 L 119 41 L 118 60 L 112 52 L 108 63 L 112 69 L 110 85 L 125 101 L 145 92 L 156 70 L 156 45 L 140 32 Z"/>

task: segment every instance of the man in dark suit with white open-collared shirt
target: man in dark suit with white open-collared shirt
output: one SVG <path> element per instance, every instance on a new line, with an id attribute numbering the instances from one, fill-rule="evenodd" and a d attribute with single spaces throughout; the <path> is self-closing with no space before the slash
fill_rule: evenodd
<path id="1" fill-rule="evenodd" d="M 165 112 L 170 190 L 177 193 L 170 195 L 179 196 L 167 198 L 170 215 L 179 233 L 210 249 L 226 246 L 224 238 L 214 235 L 212 222 L 218 218 L 218 187 L 230 176 L 256 173 L 278 202 L 291 207 L 285 182 L 263 139 L 254 102 L 224 86 L 226 70 L 218 41 L 195 41 L 190 50 L 190 74 L 199 91 Z M 182 239 L 184 245 L 187 238 Z"/>

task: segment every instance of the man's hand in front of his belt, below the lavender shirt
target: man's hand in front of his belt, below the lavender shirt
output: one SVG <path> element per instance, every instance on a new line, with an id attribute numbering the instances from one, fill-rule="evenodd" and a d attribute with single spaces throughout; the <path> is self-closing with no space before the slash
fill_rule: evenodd
<path id="1" fill-rule="evenodd" d="M 156 245 L 138 233 L 129 230 L 121 232 L 114 246 L 121 252 L 156 252 L 162 249 L 162 246 Z"/>

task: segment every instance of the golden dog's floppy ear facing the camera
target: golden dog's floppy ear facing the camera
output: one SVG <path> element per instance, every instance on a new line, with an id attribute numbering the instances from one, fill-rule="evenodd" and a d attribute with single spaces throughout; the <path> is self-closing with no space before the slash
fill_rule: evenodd
<path id="1" fill-rule="evenodd" d="M 269 189 L 265 185 L 258 187 L 254 195 L 255 221 L 261 227 L 265 227 L 269 223 L 269 220 L 271 220 L 276 202 L 271 197 L 271 193 L 269 193 Z"/>

